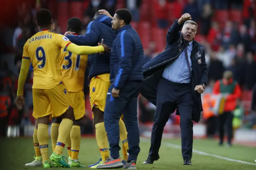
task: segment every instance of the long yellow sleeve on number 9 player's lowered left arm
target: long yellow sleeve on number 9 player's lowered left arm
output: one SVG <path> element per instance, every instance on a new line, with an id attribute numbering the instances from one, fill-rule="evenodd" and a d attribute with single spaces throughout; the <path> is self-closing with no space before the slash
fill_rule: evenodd
<path id="1" fill-rule="evenodd" d="M 20 75 L 18 79 L 17 96 L 23 96 L 23 88 L 28 76 L 29 66 L 30 66 L 30 59 L 28 57 L 22 57 Z"/>

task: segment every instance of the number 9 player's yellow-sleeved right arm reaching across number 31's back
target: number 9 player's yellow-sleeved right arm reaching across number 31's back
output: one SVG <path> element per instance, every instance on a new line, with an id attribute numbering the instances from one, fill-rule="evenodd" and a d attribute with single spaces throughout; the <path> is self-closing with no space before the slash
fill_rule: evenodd
<path id="1" fill-rule="evenodd" d="M 79 46 L 79 45 L 75 45 L 74 43 L 70 43 L 66 47 L 66 50 L 78 55 L 89 55 L 94 53 L 107 52 L 108 46 L 103 44 L 96 47 L 91 47 L 91 46 Z"/>

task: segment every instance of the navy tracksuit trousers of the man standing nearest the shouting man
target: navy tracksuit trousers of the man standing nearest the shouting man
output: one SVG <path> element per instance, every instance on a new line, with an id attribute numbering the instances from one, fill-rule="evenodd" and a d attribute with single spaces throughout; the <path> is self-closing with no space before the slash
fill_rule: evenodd
<path id="1" fill-rule="evenodd" d="M 119 125 L 120 116 L 124 115 L 129 145 L 128 160 L 137 160 L 140 152 L 140 133 L 137 117 L 137 102 L 141 82 L 128 82 L 119 92 L 118 98 L 111 95 L 113 84 L 108 89 L 106 107 L 104 111 L 104 124 L 110 145 L 110 156 L 119 157 Z"/>

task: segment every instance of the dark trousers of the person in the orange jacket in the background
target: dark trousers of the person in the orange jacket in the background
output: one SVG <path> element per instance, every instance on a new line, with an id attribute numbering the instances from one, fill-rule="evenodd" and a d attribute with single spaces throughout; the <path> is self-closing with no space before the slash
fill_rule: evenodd
<path id="1" fill-rule="evenodd" d="M 219 115 L 219 137 L 220 137 L 220 143 L 223 143 L 224 138 L 224 125 L 227 126 L 227 135 L 228 135 L 228 143 L 231 143 L 231 139 L 233 136 L 233 127 L 232 127 L 232 121 L 233 121 L 233 113 L 232 111 L 227 111 Z"/>

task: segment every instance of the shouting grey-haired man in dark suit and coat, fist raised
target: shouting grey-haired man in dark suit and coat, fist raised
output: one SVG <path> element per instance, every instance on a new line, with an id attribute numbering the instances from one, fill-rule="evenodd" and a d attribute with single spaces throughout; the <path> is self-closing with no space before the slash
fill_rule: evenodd
<path id="1" fill-rule="evenodd" d="M 192 120 L 200 120 L 200 94 L 204 92 L 208 73 L 204 46 L 194 40 L 197 24 L 191 19 L 186 13 L 174 21 L 166 34 L 166 50 L 142 67 L 144 82 L 140 93 L 156 106 L 151 147 L 144 164 L 159 159 L 164 126 L 175 109 L 180 115 L 184 165 L 192 164 Z"/>

